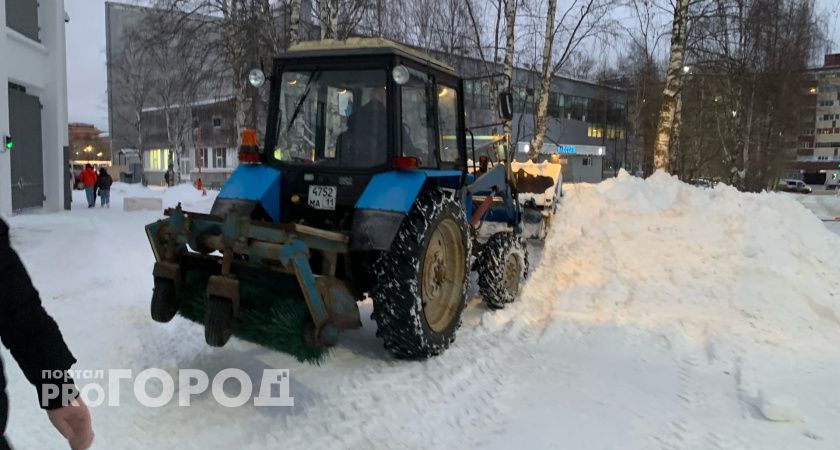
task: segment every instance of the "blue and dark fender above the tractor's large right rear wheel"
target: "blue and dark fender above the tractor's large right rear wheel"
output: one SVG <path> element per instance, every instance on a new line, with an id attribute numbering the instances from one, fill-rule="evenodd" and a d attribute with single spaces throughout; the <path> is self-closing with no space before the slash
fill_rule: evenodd
<path id="1" fill-rule="evenodd" d="M 375 175 L 356 202 L 350 249 L 388 250 L 426 185 L 458 189 L 459 170 L 395 170 Z"/>

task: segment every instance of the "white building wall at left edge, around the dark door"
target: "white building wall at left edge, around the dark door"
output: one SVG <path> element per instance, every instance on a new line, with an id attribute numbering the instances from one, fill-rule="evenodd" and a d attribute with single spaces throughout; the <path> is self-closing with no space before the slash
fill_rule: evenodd
<path id="1" fill-rule="evenodd" d="M 37 42 L 6 26 L 6 1 L 0 1 L 0 136 L 9 134 L 9 83 L 40 99 L 43 143 L 44 209 L 64 207 L 68 171 L 64 168 L 67 137 L 67 59 L 64 0 L 39 0 Z M 9 62 L 13 61 L 12 64 Z M 14 150 L 12 150 L 14 151 Z M 9 153 L 0 153 L 0 214 L 12 213 Z"/>

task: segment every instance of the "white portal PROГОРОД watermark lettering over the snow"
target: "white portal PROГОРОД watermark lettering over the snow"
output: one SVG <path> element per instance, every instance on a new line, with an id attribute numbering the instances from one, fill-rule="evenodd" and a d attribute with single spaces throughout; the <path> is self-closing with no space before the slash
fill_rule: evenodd
<path id="1" fill-rule="evenodd" d="M 77 396 L 91 407 L 104 404 L 119 406 L 122 387 L 126 383 L 132 383 L 134 398 L 149 408 L 160 408 L 175 401 L 178 406 L 190 406 L 193 397 L 208 390 L 217 403 L 228 408 L 237 408 L 249 402 L 258 407 L 295 405 L 294 397 L 289 394 L 289 369 L 265 369 L 256 382 L 247 372 L 236 368 L 221 370 L 212 380 L 207 372 L 199 369 L 180 369 L 176 380 L 169 372 L 157 368 L 145 369 L 136 376 L 130 369 L 45 370 L 41 376 L 47 381 L 41 386 L 43 406 L 59 398 L 66 405 Z M 71 379 L 87 383 L 77 390 L 70 383 Z M 229 380 L 235 380 L 235 384 L 239 385 L 236 395 L 225 390 L 225 383 Z M 148 387 L 153 383 L 161 387 L 159 392 L 149 393 Z"/>

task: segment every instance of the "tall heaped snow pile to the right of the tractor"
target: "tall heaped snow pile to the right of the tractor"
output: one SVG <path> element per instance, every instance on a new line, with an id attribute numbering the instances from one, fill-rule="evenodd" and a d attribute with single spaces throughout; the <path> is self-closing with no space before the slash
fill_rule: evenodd
<path id="1" fill-rule="evenodd" d="M 671 345 L 813 351 L 840 337 L 837 255 L 840 240 L 791 196 L 622 172 L 567 193 L 523 303 L 548 303 L 561 332 L 616 324 Z"/>

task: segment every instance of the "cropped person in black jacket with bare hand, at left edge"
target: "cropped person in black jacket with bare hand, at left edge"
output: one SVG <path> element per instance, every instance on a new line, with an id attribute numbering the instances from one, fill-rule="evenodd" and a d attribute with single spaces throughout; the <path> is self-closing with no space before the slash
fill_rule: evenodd
<path id="1" fill-rule="evenodd" d="M 58 325 L 41 306 L 38 291 L 32 286 L 29 274 L 9 243 L 9 227 L 2 219 L 0 339 L 11 351 L 26 379 L 35 386 L 39 404 L 47 411 L 53 426 L 67 439 L 70 448 L 89 448 L 93 442 L 90 412 L 78 397 L 73 379 L 67 372 L 76 359 L 67 349 Z M 65 376 L 55 377 L 56 373 L 63 373 Z M 50 398 L 47 394 L 50 387 L 57 388 L 58 392 L 71 390 L 73 395 L 66 398 L 59 394 L 56 398 Z M 8 417 L 6 379 L 0 370 L 0 449 L 10 448 L 5 437 Z"/>

